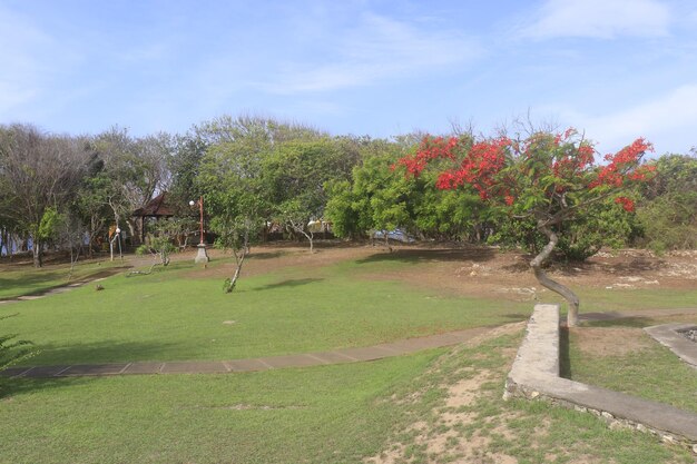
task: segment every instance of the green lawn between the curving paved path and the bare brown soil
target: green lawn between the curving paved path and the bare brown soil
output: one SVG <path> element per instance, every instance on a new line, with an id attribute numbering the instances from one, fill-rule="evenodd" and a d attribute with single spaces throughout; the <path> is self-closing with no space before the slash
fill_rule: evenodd
<path id="1" fill-rule="evenodd" d="M 252 258 L 253 259 L 253 258 Z M 223 266 L 224 263 L 215 264 Z M 175 263 L 151 275 L 112 276 L 60 295 L 0 306 L 2 329 L 35 343 L 32 365 L 236 359 L 370 346 L 528 317 L 526 303 L 443 296 L 366 278 L 395 263 L 348 260 L 222 278 Z"/>

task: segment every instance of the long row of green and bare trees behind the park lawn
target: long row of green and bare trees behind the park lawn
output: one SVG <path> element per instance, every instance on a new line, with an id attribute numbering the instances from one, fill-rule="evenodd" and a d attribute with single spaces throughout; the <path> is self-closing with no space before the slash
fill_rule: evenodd
<path id="1" fill-rule="evenodd" d="M 334 235 L 347 238 L 400 228 L 424 240 L 530 250 L 543 244 L 533 225 L 499 215 L 474 191 L 439 190 L 434 175 L 405 177 L 393 169 L 423 137 L 331 136 L 246 116 L 205 121 L 184 135 L 146 137 L 118 127 L 68 136 L 0 126 L 0 239 L 31 243 L 37 266 L 45 249 L 91 253 L 116 227 L 134 245 L 148 234 L 180 239 L 198 230 L 189 201 L 203 197 L 206 229 L 220 236 L 244 223 L 258 239 L 272 225 L 312 238 L 310 223 L 328 223 Z M 636 213 L 608 203 L 580 215 L 567 226 L 573 230 L 559 246 L 563 256 L 585 258 L 607 245 L 697 247 L 697 152 L 651 162 L 658 176 L 635 192 Z M 157 227 L 139 223 L 132 213 L 163 191 L 173 217 Z"/>

